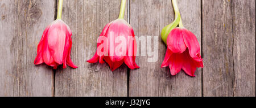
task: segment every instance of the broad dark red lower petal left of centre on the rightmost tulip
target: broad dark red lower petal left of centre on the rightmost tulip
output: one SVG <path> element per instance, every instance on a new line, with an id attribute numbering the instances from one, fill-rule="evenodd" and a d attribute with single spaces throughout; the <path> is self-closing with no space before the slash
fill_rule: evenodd
<path id="1" fill-rule="evenodd" d="M 180 72 L 183 66 L 183 54 L 172 54 L 168 61 L 171 75 L 176 75 Z"/>

